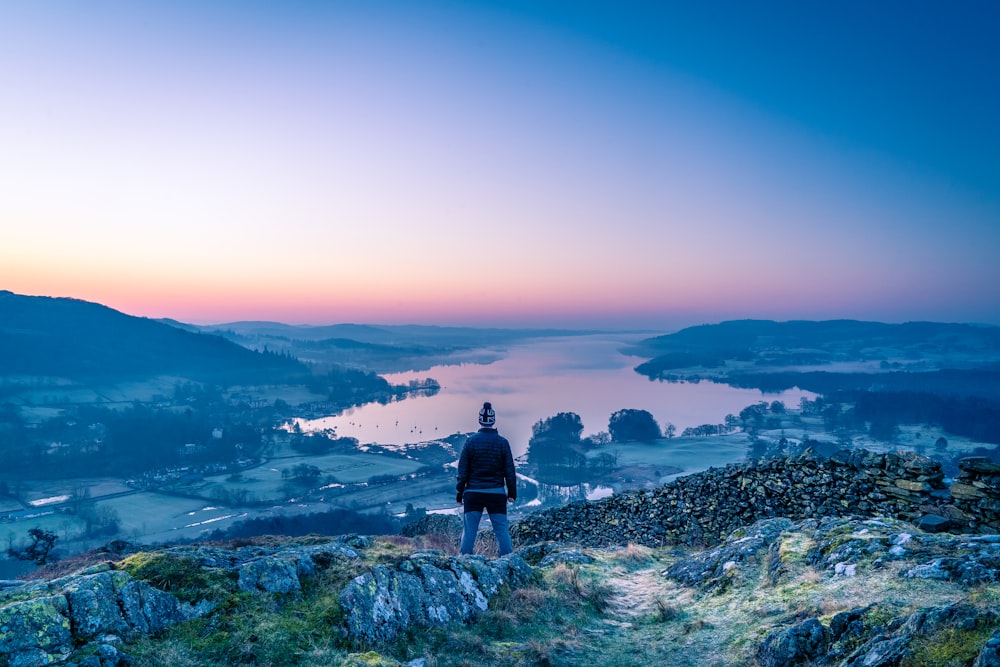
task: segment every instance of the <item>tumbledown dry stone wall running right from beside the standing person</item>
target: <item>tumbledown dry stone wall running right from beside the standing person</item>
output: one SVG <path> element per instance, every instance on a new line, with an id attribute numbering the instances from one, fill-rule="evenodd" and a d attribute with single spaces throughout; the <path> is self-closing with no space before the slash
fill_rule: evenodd
<path id="1" fill-rule="evenodd" d="M 718 544 L 761 519 L 888 516 L 925 530 L 995 533 L 1000 528 L 1000 466 L 963 461 L 949 492 L 941 465 L 912 452 L 806 452 L 711 468 L 657 489 L 572 503 L 518 522 L 518 545 Z"/>

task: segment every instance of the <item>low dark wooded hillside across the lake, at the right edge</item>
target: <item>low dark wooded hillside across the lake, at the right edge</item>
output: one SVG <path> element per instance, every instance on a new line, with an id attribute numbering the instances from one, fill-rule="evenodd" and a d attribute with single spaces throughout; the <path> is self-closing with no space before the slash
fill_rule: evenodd
<path id="1" fill-rule="evenodd" d="M 648 338 L 630 352 L 648 359 L 636 371 L 657 380 L 1000 400 L 1000 327 L 993 326 L 740 320 Z"/>

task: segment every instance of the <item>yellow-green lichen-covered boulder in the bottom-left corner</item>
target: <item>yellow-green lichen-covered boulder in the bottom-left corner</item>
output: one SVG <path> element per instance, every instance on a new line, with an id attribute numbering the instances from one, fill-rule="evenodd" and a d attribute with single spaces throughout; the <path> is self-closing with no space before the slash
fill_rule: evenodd
<path id="1" fill-rule="evenodd" d="M 50 665 L 71 650 L 69 605 L 51 595 L 0 607 L 0 654 L 12 667 Z"/>

